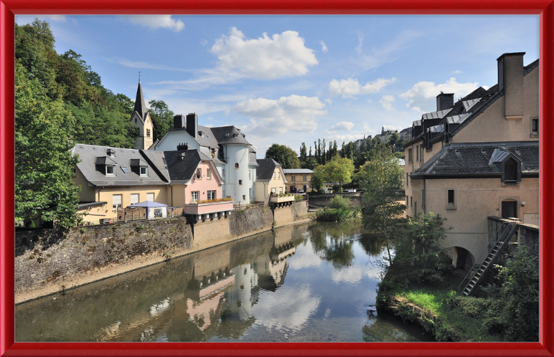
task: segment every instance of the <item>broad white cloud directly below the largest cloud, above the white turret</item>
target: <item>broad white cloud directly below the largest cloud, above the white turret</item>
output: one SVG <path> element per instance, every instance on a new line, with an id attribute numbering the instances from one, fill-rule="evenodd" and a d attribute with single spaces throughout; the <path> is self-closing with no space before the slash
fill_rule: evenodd
<path id="1" fill-rule="evenodd" d="M 248 99 L 237 103 L 233 112 L 249 116 L 249 131 L 253 136 L 285 134 L 289 130 L 307 128 L 310 132 L 317 127 L 316 116 L 327 114 L 324 103 L 317 97 L 283 96 L 273 99 Z"/>

